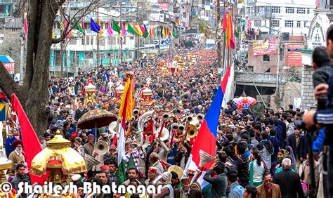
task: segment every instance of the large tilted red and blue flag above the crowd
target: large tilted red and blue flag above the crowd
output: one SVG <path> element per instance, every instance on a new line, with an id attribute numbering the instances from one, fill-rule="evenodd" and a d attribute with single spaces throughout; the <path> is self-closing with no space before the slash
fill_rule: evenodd
<path id="1" fill-rule="evenodd" d="M 204 115 L 204 120 L 202 121 L 201 127 L 197 133 L 197 138 L 191 150 L 192 159 L 188 159 L 188 164 L 192 162 L 195 163 L 196 166 L 199 166 L 200 163 L 200 150 L 206 152 L 207 154 L 215 157 L 216 155 L 216 137 L 217 137 L 217 127 L 218 127 L 218 117 L 220 116 L 221 105 L 223 101 L 224 93 L 226 93 L 226 86 L 228 84 L 228 79 L 230 77 L 230 67 L 226 70 L 226 74 L 224 74 L 223 80 L 221 81 L 220 86 L 218 86 L 218 91 L 216 92 L 213 102 L 207 111 L 207 114 Z M 204 140 L 204 141 L 202 141 Z M 205 164 L 202 168 L 202 176 L 204 175 L 204 171 L 209 169 L 211 164 L 214 161 L 210 161 Z M 188 164 L 186 166 L 188 166 Z M 184 172 L 186 172 L 184 170 Z M 198 182 L 201 182 L 200 178 L 198 178 Z M 205 185 L 200 184 L 203 188 Z"/>

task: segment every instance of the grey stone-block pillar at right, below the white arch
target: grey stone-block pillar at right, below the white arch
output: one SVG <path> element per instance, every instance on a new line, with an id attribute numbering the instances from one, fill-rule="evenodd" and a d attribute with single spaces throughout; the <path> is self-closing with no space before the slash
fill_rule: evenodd
<path id="1" fill-rule="evenodd" d="M 313 88 L 312 74 L 313 67 L 304 65 L 302 67 L 302 86 L 301 86 L 301 98 L 303 110 L 310 110 L 315 105 L 315 89 Z"/>

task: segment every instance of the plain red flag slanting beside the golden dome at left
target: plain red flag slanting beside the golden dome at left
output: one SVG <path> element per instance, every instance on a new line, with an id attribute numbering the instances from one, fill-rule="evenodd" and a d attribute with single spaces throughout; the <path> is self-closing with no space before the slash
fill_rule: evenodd
<path id="1" fill-rule="evenodd" d="M 18 114 L 18 121 L 21 126 L 22 144 L 25 150 L 25 160 L 28 168 L 31 169 L 32 159 L 34 159 L 34 157 L 43 149 L 41 148 L 41 143 L 39 142 L 37 134 L 34 132 L 34 128 L 27 118 L 27 114 L 25 114 L 25 110 L 23 110 L 22 105 L 15 93 L 11 95 L 11 103 L 13 111 Z M 39 183 L 39 185 L 44 185 L 46 175 L 39 177 L 30 174 L 30 178 L 32 184 Z"/>

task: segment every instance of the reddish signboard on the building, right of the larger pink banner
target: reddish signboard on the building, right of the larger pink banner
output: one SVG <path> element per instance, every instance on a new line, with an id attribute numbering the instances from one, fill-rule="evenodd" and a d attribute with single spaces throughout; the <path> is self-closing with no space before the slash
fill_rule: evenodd
<path id="1" fill-rule="evenodd" d="M 302 67 L 302 53 L 296 51 L 300 48 L 304 48 L 303 44 L 287 44 L 287 67 Z"/>

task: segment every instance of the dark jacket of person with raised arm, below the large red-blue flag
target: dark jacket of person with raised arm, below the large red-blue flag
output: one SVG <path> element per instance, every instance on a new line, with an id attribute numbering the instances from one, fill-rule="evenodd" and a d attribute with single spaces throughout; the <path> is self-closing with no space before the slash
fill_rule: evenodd
<path id="1" fill-rule="evenodd" d="M 211 197 L 224 197 L 228 187 L 227 176 L 225 173 L 222 173 L 213 178 L 210 176 L 212 171 L 208 169 L 204 174 L 204 180 L 211 184 Z"/>

